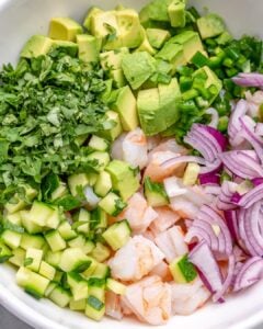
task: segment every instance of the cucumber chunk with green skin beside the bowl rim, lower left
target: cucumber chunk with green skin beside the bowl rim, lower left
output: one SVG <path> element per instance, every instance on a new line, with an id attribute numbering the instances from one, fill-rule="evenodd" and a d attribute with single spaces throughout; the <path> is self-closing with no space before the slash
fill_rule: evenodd
<path id="1" fill-rule="evenodd" d="M 49 280 L 22 266 L 16 272 L 16 283 L 28 294 L 41 298 L 46 292 Z"/>

